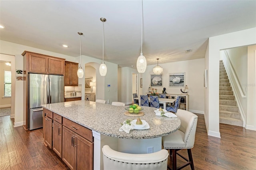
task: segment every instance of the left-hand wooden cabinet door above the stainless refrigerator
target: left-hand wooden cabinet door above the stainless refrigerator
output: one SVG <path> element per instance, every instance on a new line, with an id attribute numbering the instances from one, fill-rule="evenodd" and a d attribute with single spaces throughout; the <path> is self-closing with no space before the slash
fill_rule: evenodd
<path id="1" fill-rule="evenodd" d="M 29 54 L 29 72 L 47 73 L 48 57 Z"/>

